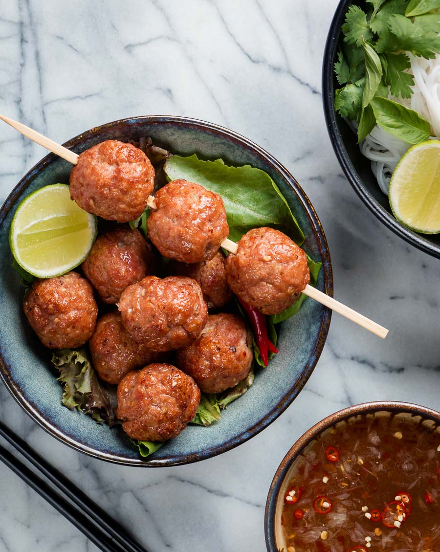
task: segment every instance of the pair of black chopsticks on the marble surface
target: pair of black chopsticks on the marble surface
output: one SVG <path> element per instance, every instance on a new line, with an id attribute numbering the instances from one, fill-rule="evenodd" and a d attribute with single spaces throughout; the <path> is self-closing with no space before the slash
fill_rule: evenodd
<path id="1" fill-rule="evenodd" d="M 61 493 L 0 445 L 0 460 L 104 552 L 147 552 L 118 522 L 0 422 L 0 435 Z M 67 500 L 69 499 L 69 500 Z"/>

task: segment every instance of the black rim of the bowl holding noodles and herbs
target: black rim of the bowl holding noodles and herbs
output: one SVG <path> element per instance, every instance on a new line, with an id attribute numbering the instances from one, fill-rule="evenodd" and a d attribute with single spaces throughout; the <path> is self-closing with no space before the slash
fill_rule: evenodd
<path id="1" fill-rule="evenodd" d="M 361 177 L 359 177 L 356 167 L 354 167 L 347 149 L 344 146 L 339 126 L 340 117 L 335 111 L 335 76 L 333 73 L 333 65 L 335 63 L 342 22 L 347 8 L 351 3 L 353 3 L 353 0 L 341 0 L 338 4 L 330 24 L 330 29 L 328 30 L 324 58 L 322 60 L 322 104 L 324 105 L 324 116 L 333 150 L 336 153 L 336 157 L 338 158 L 348 182 L 352 185 L 359 198 L 367 205 L 368 209 L 397 236 L 421 251 L 433 257 L 440 258 L 440 245 L 432 243 L 428 238 L 400 224 L 400 222 L 398 222 L 394 216 L 380 205 L 374 196 L 370 194 L 368 189 L 364 186 Z"/>

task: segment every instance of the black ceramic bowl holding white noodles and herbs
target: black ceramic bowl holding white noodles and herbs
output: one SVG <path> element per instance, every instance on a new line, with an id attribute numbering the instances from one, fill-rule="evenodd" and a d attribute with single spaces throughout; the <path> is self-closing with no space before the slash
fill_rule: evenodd
<path id="1" fill-rule="evenodd" d="M 338 43 L 341 40 L 341 25 L 351 4 L 364 6 L 365 2 L 341 0 L 338 4 L 328 31 L 322 63 L 322 102 L 333 149 L 348 181 L 370 211 L 397 236 L 425 253 L 440 258 L 440 234 L 418 234 L 397 222 L 391 213 L 388 197 L 381 192 L 371 171 L 370 161 L 359 151 L 356 136 L 342 117 L 335 112 L 335 90 L 339 88 L 339 85 L 333 72 L 333 66 L 337 57 Z"/>

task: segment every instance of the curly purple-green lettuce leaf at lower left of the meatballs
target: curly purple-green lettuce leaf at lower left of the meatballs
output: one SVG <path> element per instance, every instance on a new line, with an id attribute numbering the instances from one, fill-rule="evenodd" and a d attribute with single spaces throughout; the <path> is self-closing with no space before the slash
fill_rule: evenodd
<path id="1" fill-rule="evenodd" d="M 116 423 L 116 391 L 100 381 L 85 348 L 59 349 L 52 355 L 63 384 L 61 402 L 70 410 L 88 414 L 98 423 Z"/>

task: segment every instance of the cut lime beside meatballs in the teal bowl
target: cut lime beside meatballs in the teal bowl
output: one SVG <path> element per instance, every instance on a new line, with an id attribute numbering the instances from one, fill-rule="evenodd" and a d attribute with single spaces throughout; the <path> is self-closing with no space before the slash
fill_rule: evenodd
<path id="1" fill-rule="evenodd" d="M 50 278 L 81 264 L 96 232 L 96 216 L 70 199 L 68 185 L 52 184 L 20 203 L 10 225 L 9 246 L 20 267 Z"/>

